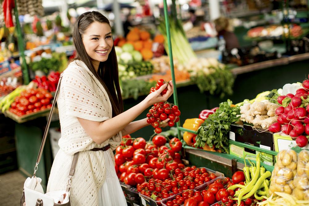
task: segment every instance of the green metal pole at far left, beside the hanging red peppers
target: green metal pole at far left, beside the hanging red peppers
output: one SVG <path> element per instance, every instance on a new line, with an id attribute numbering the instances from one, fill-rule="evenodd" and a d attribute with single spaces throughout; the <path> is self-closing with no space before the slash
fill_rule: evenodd
<path id="1" fill-rule="evenodd" d="M 21 69 L 22 69 L 22 72 L 23 72 L 23 83 L 29 84 L 30 79 L 29 79 L 29 73 L 28 73 L 28 66 L 27 66 L 27 63 L 26 63 L 26 58 L 25 58 L 25 53 L 24 53 L 25 44 L 23 42 L 20 23 L 19 23 L 19 19 L 18 19 L 18 11 L 17 11 L 16 0 L 14 0 L 14 3 L 15 3 L 14 13 L 15 13 L 15 20 L 16 20 L 18 49 L 19 49 L 20 57 L 22 58 Z"/>

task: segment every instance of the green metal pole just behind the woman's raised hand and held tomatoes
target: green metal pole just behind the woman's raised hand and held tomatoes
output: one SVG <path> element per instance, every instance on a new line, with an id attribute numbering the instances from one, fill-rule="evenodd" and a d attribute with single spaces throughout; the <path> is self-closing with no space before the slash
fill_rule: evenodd
<path id="1" fill-rule="evenodd" d="M 168 19 L 168 12 L 167 12 L 167 3 L 166 0 L 164 2 L 164 17 L 165 17 L 165 26 L 166 26 L 166 35 L 167 35 L 167 44 L 168 44 L 168 53 L 170 56 L 170 64 L 171 64 L 171 75 L 172 81 L 174 85 L 174 104 L 178 105 L 178 97 L 177 97 L 177 89 L 176 89 L 176 80 L 175 80 L 175 71 L 174 71 L 174 61 L 173 61 L 173 53 L 172 53 L 172 45 L 171 45 L 171 33 L 170 33 L 170 23 Z M 178 127 L 180 127 L 180 121 L 176 123 L 177 131 L 178 131 L 178 139 L 181 139 L 181 133 Z"/>

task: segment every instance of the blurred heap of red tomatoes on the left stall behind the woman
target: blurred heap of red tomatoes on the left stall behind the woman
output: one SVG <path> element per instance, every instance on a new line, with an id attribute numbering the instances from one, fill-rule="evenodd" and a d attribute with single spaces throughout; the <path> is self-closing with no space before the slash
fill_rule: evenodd
<path id="1" fill-rule="evenodd" d="M 24 90 L 11 104 L 9 111 L 17 116 L 31 114 L 52 107 L 53 96 L 45 89 Z"/>

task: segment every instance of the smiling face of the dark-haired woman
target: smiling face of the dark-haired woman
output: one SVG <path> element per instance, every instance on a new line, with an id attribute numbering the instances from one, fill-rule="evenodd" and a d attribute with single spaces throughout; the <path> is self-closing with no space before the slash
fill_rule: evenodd
<path id="1" fill-rule="evenodd" d="M 112 30 L 108 23 L 93 22 L 82 36 L 85 50 L 95 68 L 106 61 L 114 45 Z"/>

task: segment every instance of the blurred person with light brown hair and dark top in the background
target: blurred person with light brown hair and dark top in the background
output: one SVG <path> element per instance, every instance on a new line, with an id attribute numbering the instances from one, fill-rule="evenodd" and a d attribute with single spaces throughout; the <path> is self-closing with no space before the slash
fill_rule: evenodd
<path id="1" fill-rule="evenodd" d="M 239 48 L 239 42 L 236 35 L 232 32 L 229 19 L 226 17 L 219 17 L 214 20 L 216 31 L 219 36 L 223 36 L 225 40 L 226 49 Z"/>

